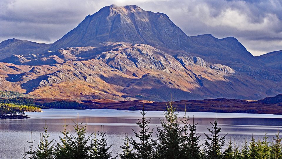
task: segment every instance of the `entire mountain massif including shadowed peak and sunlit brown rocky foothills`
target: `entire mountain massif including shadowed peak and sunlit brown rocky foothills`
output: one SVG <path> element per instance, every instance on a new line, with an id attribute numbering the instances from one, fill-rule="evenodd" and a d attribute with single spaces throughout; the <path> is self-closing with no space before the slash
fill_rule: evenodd
<path id="1" fill-rule="evenodd" d="M 167 15 L 134 5 L 106 6 L 53 44 L 8 39 L 0 55 L 0 90 L 35 97 L 256 100 L 282 92 L 282 71 L 237 39 L 189 37 Z"/>

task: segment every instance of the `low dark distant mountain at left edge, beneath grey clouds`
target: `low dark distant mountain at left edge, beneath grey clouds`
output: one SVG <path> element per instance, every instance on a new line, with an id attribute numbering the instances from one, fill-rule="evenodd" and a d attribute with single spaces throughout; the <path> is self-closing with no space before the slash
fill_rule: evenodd
<path id="1" fill-rule="evenodd" d="M 45 50 L 49 44 L 39 44 L 27 40 L 8 39 L 0 43 L 0 59 L 13 54 L 26 55 L 39 50 Z"/>

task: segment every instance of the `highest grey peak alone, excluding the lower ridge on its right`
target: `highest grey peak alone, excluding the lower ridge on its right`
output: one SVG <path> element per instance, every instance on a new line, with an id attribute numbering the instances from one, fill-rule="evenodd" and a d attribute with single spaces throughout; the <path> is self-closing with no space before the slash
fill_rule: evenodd
<path id="1" fill-rule="evenodd" d="M 165 14 L 145 11 L 135 5 L 105 6 L 87 16 L 50 49 L 95 46 L 103 42 L 127 42 L 181 49 L 189 38 Z"/>

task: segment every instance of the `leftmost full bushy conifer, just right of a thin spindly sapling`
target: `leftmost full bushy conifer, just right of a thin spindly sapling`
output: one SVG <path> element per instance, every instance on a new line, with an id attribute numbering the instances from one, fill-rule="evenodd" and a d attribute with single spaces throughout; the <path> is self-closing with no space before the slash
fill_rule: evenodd
<path id="1" fill-rule="evenodd" d="M 36 151 L 33 154 L 34 159 L 51 159 L 53 158 L 53 145 L 52 141 L 49 142 L 48 138 L 50 134 L 48 134 L 48 127 L 45 122 L 44 134 L 42 134 L 40 138 L 40 143 L 37 145 Z"/>

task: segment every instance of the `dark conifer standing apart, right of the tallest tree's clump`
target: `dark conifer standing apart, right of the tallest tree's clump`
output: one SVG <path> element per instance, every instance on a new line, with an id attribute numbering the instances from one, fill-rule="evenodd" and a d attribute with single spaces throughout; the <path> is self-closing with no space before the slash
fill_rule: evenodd
<path id="1" fill-rule="evenodd" d="M 218 118 L 215 117 L 214 122 L 210 122 L 212 125 L 212 129 L 208 128 L 208 131 L 211 133 L 211 136 L 207 135 L 205 136 L 207 139 L 205 140 L 204 145 L 204 153 L 206 155 L 207 159 L 220 159 L 223 158 L 223 154 L 221 153 L 221 150 L 224 147 L 225 144 L 225 135 L 221 136 L 219 133 L 221 132 L 221 127 L 218 127 Z"/>

